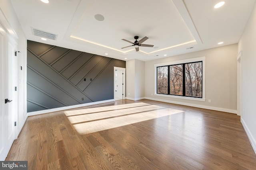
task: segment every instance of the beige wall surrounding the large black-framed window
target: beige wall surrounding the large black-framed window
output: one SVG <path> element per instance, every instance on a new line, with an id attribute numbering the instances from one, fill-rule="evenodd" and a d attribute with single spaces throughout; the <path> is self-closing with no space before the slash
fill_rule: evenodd
<path id="1" fill-rule="evenodd" d="M 236 113 L 236 56 L 238 45 L 186 53 L 145 62 L 145 98 L 186 106 Z M 206 101 L 194 101 L 154 95 L 154 64 L 206 57 Z M 152 95 L 153 94 L 153 95 Z M 211 100 L 211 103 L 208 100 Z"/>

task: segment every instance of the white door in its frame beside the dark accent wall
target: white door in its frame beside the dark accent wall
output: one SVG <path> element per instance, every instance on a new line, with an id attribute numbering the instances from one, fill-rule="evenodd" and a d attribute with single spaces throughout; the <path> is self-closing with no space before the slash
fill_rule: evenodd
<path id="1" fill-rule="evenodd" d="M 125 99 L 125 70 L 126 68 L 114 67 L 114 99 Z"/>

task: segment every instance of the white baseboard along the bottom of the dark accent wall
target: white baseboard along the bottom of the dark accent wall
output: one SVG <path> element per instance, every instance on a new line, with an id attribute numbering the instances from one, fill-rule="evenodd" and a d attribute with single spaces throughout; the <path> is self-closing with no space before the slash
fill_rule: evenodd
<path id="1" fill-rule="evenodd" d="M 111 100 L 103 100 L 103 101 L 99 101 L 99 102 L 91 102 L 91 103 L 86 103 L 86 104 L 78 104 L 78 105 L 73 105 L 73 106 L 58 107 L 58 108 L 54 108 L 54 109 L 32 111 L 32 112 L 28 112 L 28 116 L 40 115 L 40 114 L 50 113 L 50 112 L 54 112 L 54 111 L 74 109 L 74 108 L 77 108 L 77 107 L 91 106 L 91 105 L 94 105 L 94 104 L 102 104 L 102 103 L 108 103 L 108 102 L 114 102 L 114 101 L 115 101 L 114 99 L 111 99 Z"/>

